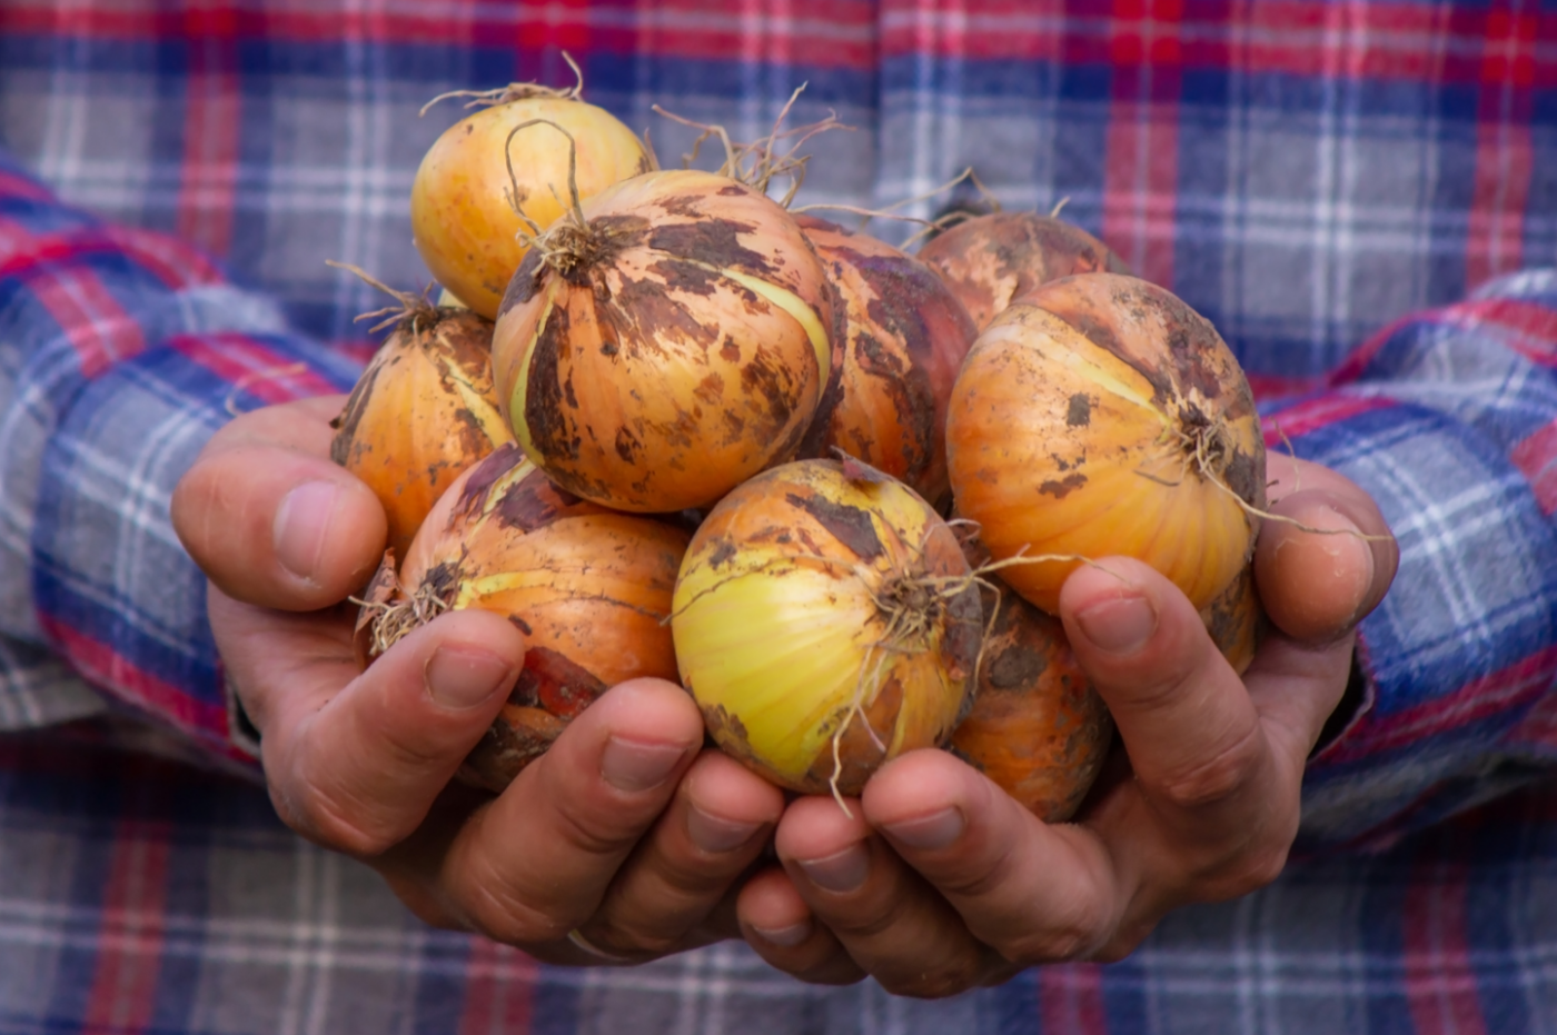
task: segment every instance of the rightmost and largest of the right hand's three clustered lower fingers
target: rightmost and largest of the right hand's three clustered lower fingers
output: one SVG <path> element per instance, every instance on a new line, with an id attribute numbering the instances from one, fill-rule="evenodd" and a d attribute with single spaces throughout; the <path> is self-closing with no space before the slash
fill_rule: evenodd
<path id="1" fill-rule="evenodd" d="M 1119 921 L 1130 889 L 1095 836 L 1042 823 L 947 752 L 887 763 L 861 805 L 970 934 L 1012 965 L 1090 957 Z"/>

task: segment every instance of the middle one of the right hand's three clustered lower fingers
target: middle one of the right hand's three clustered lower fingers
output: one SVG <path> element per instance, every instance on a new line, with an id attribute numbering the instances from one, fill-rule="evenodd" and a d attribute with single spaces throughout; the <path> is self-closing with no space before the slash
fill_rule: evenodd
<path id="1" fill-rule="evenodd" d="M 859 967 L 891 993 L 947 996 L 978 985 L 984 948 L 859 811 L 808 797 L 778 822 L 774 847 L 794 889 Z"/>

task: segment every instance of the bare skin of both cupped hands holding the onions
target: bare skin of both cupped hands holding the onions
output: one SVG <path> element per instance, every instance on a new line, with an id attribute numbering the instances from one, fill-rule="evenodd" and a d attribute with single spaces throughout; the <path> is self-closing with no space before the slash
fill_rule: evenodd
<path id="1" fill-rule="evenodd" d="M 445 615 L 385 655 L 394 663 L 357 675 L 350 615 L 332 609 L 377 565 L 383 510 L 327 459 L 341 402 L 235 420 L 173 501 L 212 577 L 212 627 L 263 732 L 272 798 L 294 830 L 374 865 L 428 921 L 553 962 L 603 962 L 565 939 L 573 928 L 638 960 L 736 921 L 807 981 L 873 974 L 925 996 L 1042 960 L 1116 959 L 1174 906 L 1244 893 L 1280 870 L 1353 627 L 1398 559 L 1387 539 L 1266 521 L 1255 579 L 1272 632 L 1242 680 L 1165 581 L 1127 560 L 1109 560 L 1112 574 L 1084 568 L 1062 593 L 1062 621 L 1124 753 L 1074 825 L 1045 826 L 940 752 L 889 763 L 853 820 L 824 797 L 785 809 L 771 784 L 701 750 L 696 707 L 659 680 L 607 691 L 503 795 L 444 792 L 501 707 L 523 638 L 494 615 Z M 1281 456 L 1267 470 L 1277 514 L 1387 531 L 1345 478 Z M 1132 629 L 1132 601 L 1155 621 L 1143 643 L 1110 649 L 1107 630 Z M 441 703 L 483 677 L 486 697 Z M 752 872 L 775 826 L 778 865 Z"/>

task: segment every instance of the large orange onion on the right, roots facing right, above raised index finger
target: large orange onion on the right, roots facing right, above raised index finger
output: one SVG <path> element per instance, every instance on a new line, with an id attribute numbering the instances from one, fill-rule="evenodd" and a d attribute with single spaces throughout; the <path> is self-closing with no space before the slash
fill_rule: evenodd
<path id="1" fill-rule="evenodd" d="M 1266 506 L 1238 361 L 1182 300 L 1118 274 L 1048 283 L 979 335 L 951 392 L 947 464 L 958 510 L 996 559 L 1130 556 L 1196 609 L 1249 563 L 1250 510 Z M 1001 577 L 1056 613 L 1076 563 Z"/>

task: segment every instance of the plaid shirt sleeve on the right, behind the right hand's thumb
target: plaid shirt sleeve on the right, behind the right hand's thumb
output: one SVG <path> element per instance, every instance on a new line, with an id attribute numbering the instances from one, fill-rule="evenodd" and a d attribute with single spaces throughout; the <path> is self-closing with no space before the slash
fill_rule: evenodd
<path id="1" fill-rule="evenodd" d="M 1309 763 L 1300 851 L 1381 848 L 1557 770 L 1557 271 L 1376 335 L 1267 409 L 1367 489 L 1400 573 L 1364 619 L 1362 703 Z"/>

